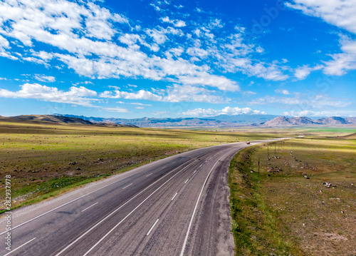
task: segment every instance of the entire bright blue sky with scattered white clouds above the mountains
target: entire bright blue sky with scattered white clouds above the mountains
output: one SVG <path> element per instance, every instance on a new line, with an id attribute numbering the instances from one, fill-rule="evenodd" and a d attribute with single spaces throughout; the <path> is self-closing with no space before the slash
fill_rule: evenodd
<path id="1" fill-rule="evenodd" d="M 0 115 L 356 116 L 353 0 L 0 2 Z"/>

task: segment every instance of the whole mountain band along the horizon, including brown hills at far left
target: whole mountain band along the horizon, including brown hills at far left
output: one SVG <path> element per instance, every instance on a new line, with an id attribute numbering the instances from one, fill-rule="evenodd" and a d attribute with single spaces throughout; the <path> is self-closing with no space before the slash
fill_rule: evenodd
<path id="1" fill-rule="evenodd" d="M 290 127 L 290 126 L 353 126 L 356 125 L 356 118 L 341 118 L 332 116 L 329 118 L 319 118 L 316 120 L 297 117 L 273 115 L 220 115 L 210 118 L 95 118 L 87 116 L 73 115 L 22 115 L 4 117 L 0 116 L 0 121 L 21 121 L 27 123 L 50 122 L 50 123 L 72 123 L 95 126 L 120 126 L 120 127 Z"/>

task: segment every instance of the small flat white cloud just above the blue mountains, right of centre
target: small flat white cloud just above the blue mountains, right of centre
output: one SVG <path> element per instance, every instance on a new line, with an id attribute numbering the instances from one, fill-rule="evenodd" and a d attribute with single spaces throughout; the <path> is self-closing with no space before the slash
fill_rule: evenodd
<path id="1" fill-rule="evenodd" d="M 253 111 L 251 108 L 231 108 L 226 107 L 221 110 L 214 110 L 212 108 L 195 108 L 182 113 L 184 116 L 218 116 L 218 115 L 240 115 L 240 114 L 266 114 L 263 111 Z"/>

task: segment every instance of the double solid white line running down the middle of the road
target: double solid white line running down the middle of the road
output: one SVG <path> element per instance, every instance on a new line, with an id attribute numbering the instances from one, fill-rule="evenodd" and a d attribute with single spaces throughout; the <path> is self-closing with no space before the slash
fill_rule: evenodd
<path id="1" fill-rule="evenodd" d="M 195 163 L 196 161 L 197 161 L 197 160 L 194 160 L 192 163 L 189 163 L 189 165 L 192 165 L 192 164 Z M 184 170 L 185 168 L 187 168 L 189 165 L 187 165 L 186 167 L 184 167 L 182 170 Z M 180 166 L 179 166 L 179 167 L 180 167 Z M 177 168 L 179 168 L 179 167 L 177 167 Z M 175 169 L 177 169 L 177 168 L 175 168 Z M 175 169 L 174 169 L 174 170 L 175 170 Z M 179 170 L 178 173 L 182 172 L 182 170 Z M 172 171 L 173 171 L 173 170 L 172 170 Z M 170 173 L 172 173 L 172 171 L 169 172 L 169 173 L 167 173 L 166 175 L 162 176 L 162 178 L 159 178 L 159 180 L 162 180 L 164 177 L 166 177 L 167 175 L 169 175 Z M 172 178 L 173 178 L 175 175 L 177 175 L 178 173 L 174 174 L 174 175 L 172 176 Z M 171 180 L 172 178 L 169 178 L 169 180 Z M 78 238 L 75 239 L 73 242 L 71 242 L 69 245 L 67 245 L 67 247 L 65 247 L 63 250 L 61 250 L 61 252 L 58 252 L 58 253 L 56 254 L 56 256 L 61 255 L 62 252 L 66 251 L 70 246 L 74 245 L 75 242 L 78 242 L 78 240 L 80 240 L 83 236 L 87 235 L 88 232 L 90 232 L 91 230 L 93 230 L 95 227 L 98 227 L 98 225 L 100 225 L 101 222 L 103 222 L 103 221 L 106 220 L 108 217 L 110 217 L 111 215 L 113 215 L 114 213 L 116 213 L 117 210 L 120 210 L 120 209 L 121 209 L 122 207 L 124 207 L 127 203 L 130 203 L 131 200 L 133 200 L 134 198 L 136 198 L 136 197 L 137 197 L 138 195 L 140 195 L 141 193 L 145 192 L 145 190 L 147 190 L 148 188 L 150 188 L 152 185 L 155 185 L 155 183 L 159 182 L 159 180 L 156 180 L 156 181 L 155 181 L 154 183 L 152 183 L 151 185 L 148 185 L 145 189 L 143 189 L 142 191 L 140 191 L 140 193 L 137 193 L 135 196 L 133 196 L 132 198 L 130 198 L 130 200 L 127 200 L 123 205 L 120 205 L 119 208 L 115 209 L 114 211 L 112 211 L 112 213 L 110 213 L 109 215 L 107 215 L 106 217 L 104 217 L 102 220 L 100 220 L 100 222 L 96 223 L 93 227 L 90 227 L 90 229 L 87 230 L 86 232 L 84 232 L 83 235 L 80 235 L 80 237 L 78 237 Z M 167 180 L 165 183 L 167 183 L 169 180 Z M 163 185 L 164 185 L 165 183 L 163 183 Z M 163 185 L 161 185 L 159 188 L 162 188 Z M 159 190 L 159 188 L 157 188 L 157 190 Z M 156 193 L 157 190 L 155 190 L 154 193 Z M 154 193 L 152 193 L 151 195 L 153 195 Z M 150 195 L 150 196 L 151 196 L 151 195 Z M 149 196 L 148 198 L 150 198 L 150 196 Z M 147 200 L 148 198 L 146 198 L 145 200 Z M 142 203 L 145 203 L 145 200 L 144 200 Z M 140 203 L 140 205 L 142 205 L 142 203 Z M 133 213 L 140 205 L 138 205 L 134 210 L 132 210 L 131 213 Z M 120 223 L 121 223 L 122 221 L 124 221 L 129 215 L 131 215 L 131 213 L 129 213 L 129 214 L 128 214 L 124 219 L 122 219 L 115 227 L 113 227 L 112 230 L 114 230 L 118 225 L 120 225 Z M 101 242 L 107 235 L 109 235 L 110 232 L 112 232 L 112 230 L 110 230 L 110 231 L 109 231 L 104 237 L 102 237 L 93 247 L 91 247 L 90 250 L 85 253 L 85 255 L 87 255 L 91 250 L 93 250 L 93 248 L 94 248 L 96 245 L 98 245 L 99 242 Z"/>

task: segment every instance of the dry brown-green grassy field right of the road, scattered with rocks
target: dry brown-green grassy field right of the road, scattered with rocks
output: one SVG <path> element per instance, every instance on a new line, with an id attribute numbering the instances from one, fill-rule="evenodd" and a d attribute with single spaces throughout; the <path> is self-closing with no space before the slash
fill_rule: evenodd
<path id="1" fill-rule="evenodd" d="M 356 255 L 355 129 L 304 132 L 231 162 L 236 255 Z"/>

